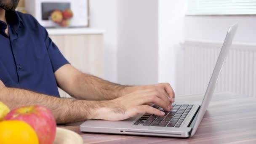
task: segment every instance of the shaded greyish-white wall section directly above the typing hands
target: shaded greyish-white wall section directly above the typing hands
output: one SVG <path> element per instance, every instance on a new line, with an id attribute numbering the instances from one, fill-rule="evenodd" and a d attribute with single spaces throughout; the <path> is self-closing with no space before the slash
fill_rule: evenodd
<path id="1" fill-rule="evenodd" d="M 157 3 L 157 0 L 118 0 L 118 83 L 158 82 Z"/>

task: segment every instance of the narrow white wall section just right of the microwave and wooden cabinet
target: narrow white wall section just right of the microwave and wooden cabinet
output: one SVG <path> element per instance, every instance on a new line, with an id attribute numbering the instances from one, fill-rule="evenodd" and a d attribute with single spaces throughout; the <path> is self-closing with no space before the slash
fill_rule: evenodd
<path id="1" fill-rule="evenodd" d="M 117 0 L 90 0 L 91 27 L 105 29 L 105 79 L 117 82 Z"/>

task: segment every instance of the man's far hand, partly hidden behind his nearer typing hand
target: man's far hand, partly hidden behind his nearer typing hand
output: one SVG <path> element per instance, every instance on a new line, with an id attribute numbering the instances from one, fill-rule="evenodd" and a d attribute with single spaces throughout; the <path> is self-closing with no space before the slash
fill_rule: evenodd
<path id="1" fill-rule="evenodd" d="M 145 89 L 152 89 L 152 90 L 158 91 L 161 95 L 166 96 L 170 102 L 174 102 L 175 94 L 169 83 L 126 87 L 123 90 L 123 95 L 131 93 L 133 91 L 140 91 Z"/>

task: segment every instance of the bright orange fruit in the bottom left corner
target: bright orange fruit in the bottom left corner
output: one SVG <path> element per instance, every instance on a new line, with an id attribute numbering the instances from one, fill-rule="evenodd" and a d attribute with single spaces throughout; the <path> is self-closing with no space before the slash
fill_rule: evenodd
<path id="1" fill-rule="evenodd" d="M 37 134 L 27 123 L 19 120 L 0 122 L 0 144 L 39 144 Z"/>

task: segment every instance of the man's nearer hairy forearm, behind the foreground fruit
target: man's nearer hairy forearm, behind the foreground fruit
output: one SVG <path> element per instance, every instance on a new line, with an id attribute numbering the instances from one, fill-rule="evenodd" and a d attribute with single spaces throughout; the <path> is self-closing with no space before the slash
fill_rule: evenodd
<path id="1" fill-rule="evenodd" d="M 27 105 L 42 105 L 53 113 L 57 123 L 74 123 L 95 117 L 99 101 L 61 99 L 18 88 L 0 88 L 0 101 L 10 109 Z"/>

